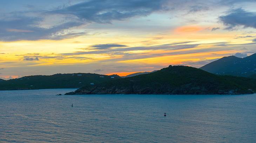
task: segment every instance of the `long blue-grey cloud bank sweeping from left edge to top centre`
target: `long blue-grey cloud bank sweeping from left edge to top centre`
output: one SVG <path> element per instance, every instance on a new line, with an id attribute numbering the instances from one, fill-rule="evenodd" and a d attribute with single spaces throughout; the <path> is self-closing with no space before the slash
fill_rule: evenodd
<path id="1" fill-rule="evenodd" d="M 0 17 L 0 41 L 64 39 L 89 35 L 87 23 L 112 23 L 167 10 L 168 0 L 86 0 L 52 10 L 14 11 Z M 74 28 L 74 29 L 72 29 Z"/>

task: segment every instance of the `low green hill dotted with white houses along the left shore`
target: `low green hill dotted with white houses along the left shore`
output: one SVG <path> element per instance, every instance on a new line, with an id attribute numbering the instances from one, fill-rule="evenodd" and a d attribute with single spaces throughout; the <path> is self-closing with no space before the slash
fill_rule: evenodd
<path id="1" fill-rule="evenodd" d="M 0 90 L 81 88 L 90 84 L 99 84 L 121 78 L 118 75 L 99 75 L 90 73 L 35 75 L 0 81 Z"/>

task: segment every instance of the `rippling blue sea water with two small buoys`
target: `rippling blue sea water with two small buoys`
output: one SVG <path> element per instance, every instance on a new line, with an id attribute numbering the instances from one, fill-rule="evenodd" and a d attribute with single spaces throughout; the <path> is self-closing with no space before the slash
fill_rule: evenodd
<path id="1" fill-rule="evenodd" d="M 74 90 L 0 91 L 0 142 L 256 142 L 256 95 Z"/>

